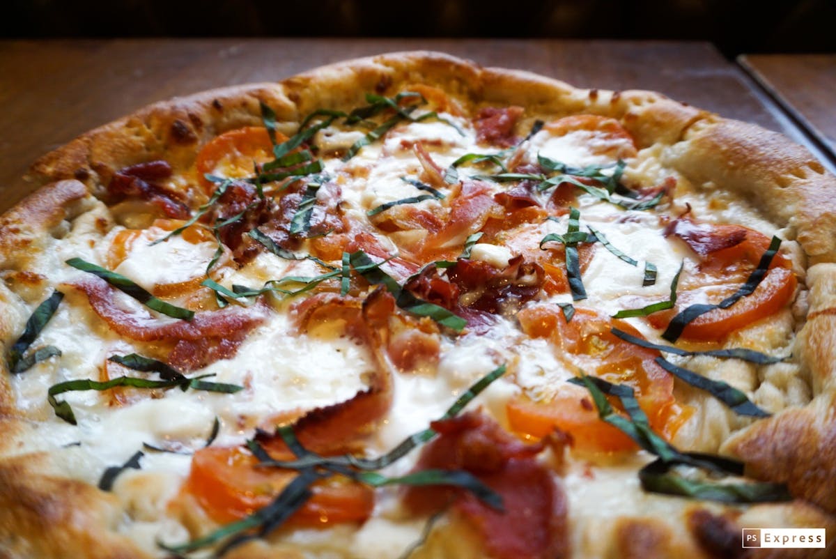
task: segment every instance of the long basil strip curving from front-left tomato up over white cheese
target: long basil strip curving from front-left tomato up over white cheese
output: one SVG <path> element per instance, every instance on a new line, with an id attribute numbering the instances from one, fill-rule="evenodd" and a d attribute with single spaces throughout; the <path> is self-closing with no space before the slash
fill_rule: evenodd
<path id="1" fill-rule="evenodd" d="M 473 385 L 468 388 L 465 392 L 461 393 L 461 396 L 456 398 L 456 402 L 452 403 L 450 408 L 447 408 L 447 411 L 441 418 L 438 418 L 438 421 L 444 421 L 446 419 L 455 418 L 462 409 L 466 407 L 468 403 L 471 403 L 474 398 L 476 398 L 482 391 L 484 391 L 487 387 L 491 385 L 492 382 L 497 380 L 497 378 L 502 377 L 505 374 L 506 367 L 505 365 L 501 365 L 497 367 L 492 372 L 487 373 L 484 377 L 480 378 L 477 382 L 473 383 Z M 293 428 L 292 426 L 285 426 L 290 428 L 290 435 L 293 436 Z M 283 433 L 282 428 L 278 428 L 277 432 L 283 435 L 285 438 L 285 433 Z M 367 471 L 377 470 L 381 468 L 385 468 L 386 466 L 395 463 L 397 460 L 403 458 L 406 454 L 409 454 L 410 451 L 413 449 L 421 446 L 421 444 L 425 444 L 431 438 L 436 436 L 436 432 L 431 428 L 426 428 L 423 431 L 419 431 L 418 433 L 413 433 L 409 437 L 405 438 L 403 441 L 400 442 L 394 449 L 391 449 L 388 453 L 383 454 L 375 459 L 366 459 L 366 458 L 358 458 L 356 456 L 352 456 L 351 454 L 344 454 L 343 456 L 318 456 L 313 453 L 305 454 L 303 459 L 293 460 L 293 461 L 281 461 L 281 460 L 273 460 L 271 459 L 266 453 L 261 453 L 258 450 L 257 444 L 247 444 L 250 449 L 253 451 L 253 454 L 263 462 L 266 466 L 275 466 L 278 468 L 288 468 L 288 469 L 302 469 L 302 468 L 309 468 L 313 466 L 352 466 L 356 469 L 362 469 Z M 293 437 L 295 438 L 295 437 Z M 288 438 L 285 438 L 287 441 Z"/>

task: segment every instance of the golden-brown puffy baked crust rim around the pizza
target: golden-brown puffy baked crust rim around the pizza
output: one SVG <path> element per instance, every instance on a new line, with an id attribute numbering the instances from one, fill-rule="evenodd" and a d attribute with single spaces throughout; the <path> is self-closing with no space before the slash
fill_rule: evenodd
<path id="1" fill-rule="evenodd" d="M 836 488 L 829 483 L 836 477 L 836 454 L 831 451 L 836 448 L 832 412 L 836 315 L 829 312 L 836 292 L 836 267 L 827 264 L 836 261 L 836 179 L 783 136 L 721 119 L 664 95 L 579 90 L 535 74 L 485 69 L 445 54 L 417 52 L 352 60 L 278 84 L 212 90 L 150 105 L 80 136 L 33 165 L 29 178 L 48 186 L 3 216 L 0 268 L 15 273 L 27 269 L 45 249 L 40 239 L 59 232 L 65 220 L 91 208 L 87 192 L 102 197 L 122 167 L 165 158 L 175 175 L 191 173 L 193 177 L 196 152 L 206 141 L 223 131 L 261 123 L 259 101 L 276 111 L 280 131 L 293 133 L 301 117 L 319 107 L 358 105 L 366 91 L 391 95 L 415 83 L 439 87 L 474 107 L 521 105 L 528 120 L 535 115 L 557 118 L 578 113 L 618 119 L 640 148 L 660 146 L 663 162 L 686 180 L 697 186 L 721 185 L 761 208 L 767 218 L 787 227 L 810 263 L 817 264 L 808 270 L 812 318 L 798 336 L 797 352 L 813 377 L 813 403 L 754 423 L 726 441 L 723 450 L 746 459 L 757 477 L 788 481 L 796 495 L 827 512 L 800 500 L 753 506 L 737 518 L 730 512 L 703 514 L 691 506 L 671 505 L 671 515 L 664 521 L 641 515 L 619 519 L 610 539 L 584 551 L 597 556 L 716 556 L 724 549 L 723 541 L 712 540 L 712 535 L 731 537 L 737 526 L 750 526 L 749 518 L 761 518 L 762 510 L 768 510 L 765 518 L 781 518 L 784 526 L 836 526 L 828 515 L 836 512 Z M 204 192 L 185 183 L 167 186 L 179 188 L 192 206 L 206 200 Z M 11 293 L 3 287 L 0 306 L 8 305 L 3 299 L 8 300 Z M 45 295 L 43 289 L 35 289 L 31 300 Z M 3 340 L 8 341 L 19 328 L 19 320 L 0 318 Z M 12 415 L 5 367 L 5 363 L 0 366 L 0 413 Z M 15 424 L 19 420 L 3 421 Z M 804 454 L 798 453 L 799 447 L 806 449 Z M 0 459 L 0 549 L 11 556 L 143 556 L 115 532 L 120 512 L 113 495 L 56 477 L 53 468 L 43 454 Z M 31 505 L 21 508 L 22 502 Z M 455 539 L 450 534 L 465 533 L 455 522 L 452 526 L 434 531 L 416 557 L 450 556 L 448 546 Z M 461 537 L 456 545 L 464 542 L 468 552 L 479 556 L 479 551 L 473 551 L 478 547 L 468 541 Z M 253 542 L 230 556 L 290 559 L 298 553 Z M 456 552 L 456 556 L 461 555 Z M 757 556 L 768 554 L 762 551 Z"/>

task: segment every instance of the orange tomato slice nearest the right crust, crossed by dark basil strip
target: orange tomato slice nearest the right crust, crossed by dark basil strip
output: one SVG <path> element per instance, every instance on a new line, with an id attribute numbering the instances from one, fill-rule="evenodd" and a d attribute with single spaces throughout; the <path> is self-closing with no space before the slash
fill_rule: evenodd
<path id="1" fill-rule="evenodd" d="M 709 226 L 702 223 L 700 227 Z M 666 328 L 670 320 L 688 305 L 696 302 L 716 304 L 734 294 L 757 268 L 763 253 L 769 248 L 770 238 L 750 228 L 740 225 L 711 227 L 717 235 L 727 237 L 742 231 L 745 237 L 734 246 L 705 254 L 697 266 L 697 274 L 681 282 L 685 289 L 680 291 L 675 309 L 647 317 L 655 328 Z M 733 331 L 775 314 L 788 305 L 795 294 L 798 281 L 790 269 L 791 265 L 789 259 L 780 253 L 776 254 L 766 276 L 751 295 L 742 297 L 726 309 L 718 308 L 698 316 L 685 327 L 680 338 L 690 341 L 721 341 Z M 706 289 L 711 286 L 716 286 L 716 289 Z M 710 293 L 707 301 L 706 292 Z"/>

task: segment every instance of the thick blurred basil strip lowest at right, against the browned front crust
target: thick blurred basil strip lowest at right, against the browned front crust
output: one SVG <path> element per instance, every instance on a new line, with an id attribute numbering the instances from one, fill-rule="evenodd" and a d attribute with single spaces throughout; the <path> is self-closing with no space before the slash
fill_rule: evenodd
<path id="1" fill-rule="evenodd" d="M 680 495 L 692 499 L 723 503 L 767 503 L 793 500 L 786 484 L 767 482 L 716 483 L 688 480 L 671 470 L 672 464 L 657 459 L 639 470 L 641 486 L 646 491 Z"/>

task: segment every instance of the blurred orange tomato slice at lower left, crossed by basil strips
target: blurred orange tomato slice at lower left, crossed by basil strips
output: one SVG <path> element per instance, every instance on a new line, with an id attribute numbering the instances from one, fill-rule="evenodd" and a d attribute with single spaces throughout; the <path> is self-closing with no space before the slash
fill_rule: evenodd
<path id="1" fill-rule="evenodd" d="M 240 447 L 197 450 L 185 489 L 213 520 L 237 521 L 267 506 L 296 477 L 293 470 L 258 468 Z M 334 477 L 311 487 L 314 495 L 290 520 L 295 526 L 362 522 L 375 505 L 370 487 Z"/>

